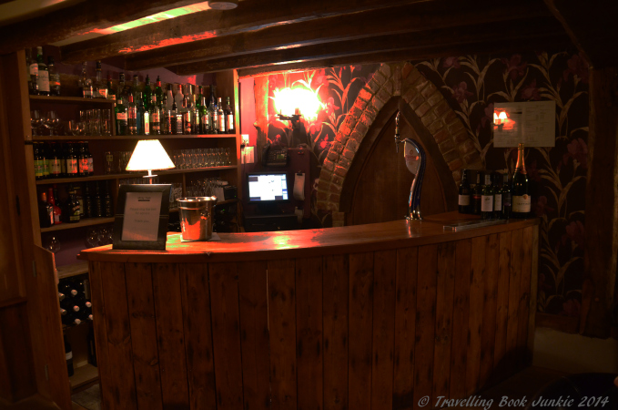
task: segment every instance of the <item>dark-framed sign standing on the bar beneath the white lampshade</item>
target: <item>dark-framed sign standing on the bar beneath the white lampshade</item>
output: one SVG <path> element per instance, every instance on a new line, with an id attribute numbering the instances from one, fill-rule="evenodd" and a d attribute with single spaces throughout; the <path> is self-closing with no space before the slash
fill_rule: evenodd
<path id="1" fill-rule="evenodd" d="M 120 185 L 113 249 L 165 251 L 171 185 Z"/>

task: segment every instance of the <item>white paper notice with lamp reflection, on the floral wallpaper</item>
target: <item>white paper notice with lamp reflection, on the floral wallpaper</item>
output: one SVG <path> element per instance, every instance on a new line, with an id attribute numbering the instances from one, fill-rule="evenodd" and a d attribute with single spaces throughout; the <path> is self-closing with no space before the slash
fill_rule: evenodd
<path id="1" fill-rule="evenodd" d="M 493 146 L 555 147 L 555 101 L 525 101 L 493 105 Z"/>

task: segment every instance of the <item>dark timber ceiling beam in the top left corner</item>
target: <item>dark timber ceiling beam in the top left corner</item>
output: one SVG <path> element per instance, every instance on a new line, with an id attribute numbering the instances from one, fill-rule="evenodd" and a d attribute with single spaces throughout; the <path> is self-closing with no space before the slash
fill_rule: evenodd
<path id="1" fill-rule="evenodd" d="M 44 46 L 73 36 L 196 3 L 195 0 L 85 1 L 19 23 L 0 27 L 0 55 Z"/>

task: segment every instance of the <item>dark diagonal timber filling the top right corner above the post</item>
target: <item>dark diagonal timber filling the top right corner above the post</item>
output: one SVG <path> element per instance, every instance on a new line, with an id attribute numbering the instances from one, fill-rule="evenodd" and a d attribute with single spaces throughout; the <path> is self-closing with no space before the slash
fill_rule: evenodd
<path id="1" fill-rule="evenodd" d="M 618 67 L 618 1 L 544 0 L 591 66 Z"/>

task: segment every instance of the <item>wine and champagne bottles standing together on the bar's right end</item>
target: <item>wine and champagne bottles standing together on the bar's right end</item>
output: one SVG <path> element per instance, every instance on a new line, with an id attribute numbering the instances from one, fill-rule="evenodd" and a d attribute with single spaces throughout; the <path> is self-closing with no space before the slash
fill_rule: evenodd
<path id="1" fill-rule="evenodd" d="M 470 181 L 471 169 L 464 169 L 459 189 L 460 213 L 481 215 L 482 219 L 488 220 L 530 217 L 532 200 L 523 159 L 523 144 L 518 148 L 512 179 L 508 173 L 486 170 L 477 171 L 476 184 Z"/>

